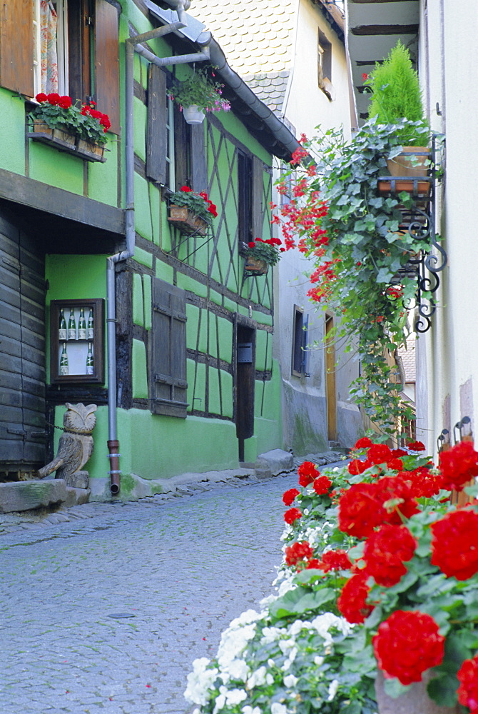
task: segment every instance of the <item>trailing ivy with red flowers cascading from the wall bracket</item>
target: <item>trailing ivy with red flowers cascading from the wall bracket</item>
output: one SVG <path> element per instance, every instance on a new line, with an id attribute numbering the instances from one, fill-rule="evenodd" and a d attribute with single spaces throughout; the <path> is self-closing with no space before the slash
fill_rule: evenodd
<path id="1" fill-rule="evenodd" d="M 273 218 L 282 225 L 286 247 L 298 243 L 315 259 L 308 295 L 340 318 L 336 338 L 355 338 L 347 350 L 356 351 L 361 374 L 350 394 L 388 434 L 398 419 L 413 417 L 391 379 L 390 355 L 405 343 L 407 308 L 417 289 L 416 277 L 399 271 L 418 251 L 427 253 L 432 241 L 400 227 L 402 208 L 412 206 L 410 193 L 377 193 L 378 177 L 388 173 L 386 160 L 400 154 L 400 133 L 410 128 L 428 131 L 421 121 L 378 125 L 372 119 L 352 141 L 335 129 L 313 141 L 302 135 L 303 148 L 291 164 L 302 162 L 303 170 L 281 178 L 278 191 L 288 193 L 293 177 L 293 198 Z"/>

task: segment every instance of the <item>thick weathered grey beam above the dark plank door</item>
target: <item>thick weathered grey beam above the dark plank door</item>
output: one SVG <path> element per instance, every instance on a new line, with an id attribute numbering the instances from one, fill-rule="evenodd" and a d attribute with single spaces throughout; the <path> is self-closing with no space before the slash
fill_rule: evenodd
<path id="1" fill-rule="evenodd" d="M 125 233 L 125 217 L 121 208 L 4 169 L 0 169 L 0 198 L 101 228 L 108 233 Z"/>

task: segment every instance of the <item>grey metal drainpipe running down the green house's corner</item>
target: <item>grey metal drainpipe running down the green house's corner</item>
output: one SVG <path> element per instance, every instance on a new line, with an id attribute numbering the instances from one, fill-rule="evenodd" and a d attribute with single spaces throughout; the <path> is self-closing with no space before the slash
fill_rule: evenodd
<path id="1" fill-rule="evenodd" d="M 106 261 L 106 336 L 108 351 L 108 458 L 110 460 L 110 491 L 116 496 L 120 491 L 119 468 L 119 441 L 116 421 L 116 286 L 115 264 L 133 257 L 136 242 L 135 217 L 134 217 L 134 53 L 138 51 L 143 57 L 153 64 L 163 66 L 166 64 L 187 64 L 209 59 L 209 48 L 195 54 L 179 55 L 173 57 L 157 57 L 139 43 L 161 37 L 186 26 L 185 7 L 190 5 L 189 0 L 166 0 L 174 6 L 179 20 L 169 25 L 163 25 L 141 35 L 129 37 L 126 40 L 126 124 L 125 124 L 125 149 L 126 149 L 126 251 L 109 256 Z M 184 20 L 184 21 L 183 21 Z"/>

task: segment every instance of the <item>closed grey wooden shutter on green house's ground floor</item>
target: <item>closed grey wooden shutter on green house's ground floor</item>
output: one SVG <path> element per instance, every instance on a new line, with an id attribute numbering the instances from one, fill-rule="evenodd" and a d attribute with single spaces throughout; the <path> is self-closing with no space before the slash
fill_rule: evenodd
<path id="1" fill-rule="evenodd" d="M 185 418 L 188 408 L 185 291 L 158 278 L 153 280 L 152 337 L 151 411 Z"/>

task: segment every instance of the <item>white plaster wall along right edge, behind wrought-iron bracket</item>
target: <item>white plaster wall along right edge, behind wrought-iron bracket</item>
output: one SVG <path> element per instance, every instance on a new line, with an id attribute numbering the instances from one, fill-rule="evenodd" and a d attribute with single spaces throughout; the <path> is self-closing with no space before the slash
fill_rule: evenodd
<path id="1" fill-rule="evenodd" d="M 425 7 L 426 12 L 425 12 Z M 478 6 L 457 11 L 452 0 L 422 0 L 420 71 L 428 78 L 427 105 L 433 129 L 446 134 L 446 185 L 439 192 L 438 230 L 448 267 L 441 274 L 432 330 L 419 340 L 417 403 L 421 436 L 433 448 L 442 428 L 463 416 L 474 426 L 478 404 L 478 83 L 474 46 Z M 424 29 L 424 27 L 423 27 Z M 427 46 L 428 39 L 428 46 Z M 436 103 L 442 116 L 436 112 Z M 449 423 L 447 420 L 449 400 Z M 436 448 L 436 446 L 435 446 Z"/>

